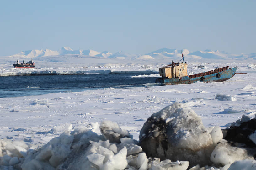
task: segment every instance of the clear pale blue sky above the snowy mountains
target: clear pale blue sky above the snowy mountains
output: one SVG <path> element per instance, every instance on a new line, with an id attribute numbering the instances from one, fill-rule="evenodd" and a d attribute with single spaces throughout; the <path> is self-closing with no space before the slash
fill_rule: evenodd
<path id="1" fill-rule="evenodd" d="M 1 1 L 0 56 L 22 50 L 256 52 L 256 1 Z"/>

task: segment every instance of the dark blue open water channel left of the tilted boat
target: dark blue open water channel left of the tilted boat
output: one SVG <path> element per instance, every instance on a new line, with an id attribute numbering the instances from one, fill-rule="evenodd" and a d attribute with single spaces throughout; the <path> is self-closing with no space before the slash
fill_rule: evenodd
<path id="1" fill-rule="evenodd" d="M 0 77 L 0 98 L 56 92 L 78 92 L 87 89 L 109 87 L 143 87 L 155 83 L 156 77 L 132 77 L 137 75 L 140 74 L 121 73 Z"/>

